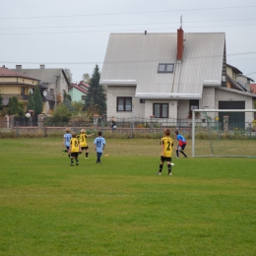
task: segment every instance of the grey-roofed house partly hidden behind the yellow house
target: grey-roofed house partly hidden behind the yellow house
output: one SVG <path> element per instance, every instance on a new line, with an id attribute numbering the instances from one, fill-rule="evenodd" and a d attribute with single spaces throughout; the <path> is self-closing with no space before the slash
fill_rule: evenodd
<path id="1" fill-rule="evenodd" d="M 55 109 L 59 98 L 63 99 L 70 86 L 64 69 L 46 69 L 45 65 L 40 65 L 38 69 L 23 69 L 22 65 L 16 65 L 14 71 L 40 80 L 40 86 L 44 88 L 43 100 L 46 100 L 44 113 Z"/>

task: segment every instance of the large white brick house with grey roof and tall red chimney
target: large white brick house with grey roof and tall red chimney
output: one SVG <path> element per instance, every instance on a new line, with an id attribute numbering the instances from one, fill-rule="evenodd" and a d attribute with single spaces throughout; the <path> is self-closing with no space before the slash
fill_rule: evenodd
<path id="1" fill-rule="evenodd" d="M 229 67 L 224 32 L 111 33 L 99 82 L 107 117 L 178 122 L 194 108 L 252 109 L 254 95 L 227 87 Z"/>

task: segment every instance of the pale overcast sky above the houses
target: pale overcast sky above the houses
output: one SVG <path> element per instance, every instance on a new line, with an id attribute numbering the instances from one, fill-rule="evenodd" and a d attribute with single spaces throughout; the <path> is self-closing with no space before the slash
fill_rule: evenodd
<path id="1" fill-rule="evenodd" d="M 210 4 L 211 3 L 211 4 Z M 111 32 L 225 32 L 227 63 L 256 81 L 255 0 L 0 0 L 0 66 L 101 71 Z"/>

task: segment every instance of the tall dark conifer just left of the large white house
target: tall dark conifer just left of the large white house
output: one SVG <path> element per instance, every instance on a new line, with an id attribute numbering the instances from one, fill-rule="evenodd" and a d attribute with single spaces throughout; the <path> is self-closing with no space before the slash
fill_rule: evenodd
<path id="1" fill-rule="evenodd" d="M 98 66 L 96 65 L 94 73 L 90 80 L 90 87 L 88 89 L 88 94 L 86 96 L 85 110 L 88 112 L 89 116 L 92 116 L 92 109 L 96 111 L 95 113 L 102 115 L 106 111 L 106 102 L 104 90 L 99 86 L 100 72 Z"/>

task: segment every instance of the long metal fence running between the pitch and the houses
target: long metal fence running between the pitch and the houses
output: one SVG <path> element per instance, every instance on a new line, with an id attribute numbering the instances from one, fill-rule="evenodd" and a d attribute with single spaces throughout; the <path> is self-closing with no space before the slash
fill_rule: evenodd
<path id="1" fill-rule="evenodd" d="M 64 132 L 66 127 L 70 127 L 71 130 L 77 133 L 83 128 L 91 132 L 101 130 L 103 133 L 115 133 L 115 135 L 124 135 L 130 138 L 133 138 L 139 133 L 159 134 L 159 136 L 162 136 L 164 128 L 170 128 L 172 133 L 175 130 L 179 130 L 180 133 L 186 137 L 192 135 L 191 119 L 116 118 L 116 126 L 116 130 L 112 130 L 111 119 L 104 118 L 88 119 L 84 117 L 74 117 L 66 122 L 58 122 L 46 116 L 42 119 L 15 117 L 12 121 L 0 120 L 0 132 L 13 130 L 21 134 L 29 131 L 32 133 L 43 131 L 45 137 L 52 131 Z M 217 121 L 207 123 L 204 119 L 197 119 L 195 126 L 198 133 L 205 132 L 210 128 L 211 130 L 217 130 L 219 134 L 224 132 L 222 123 Z M 254 135 L 256 132 L 256 127 L 251 125 L 251 123 L 243 123 L 241 128 L 239 127 L 238 124 L 234 126 L 229 125 L 229 132 L 233 134 L 249 134 L 250 136 Z M 244 127 L 244 129 L 242 129 L 242 127 Z"/>

